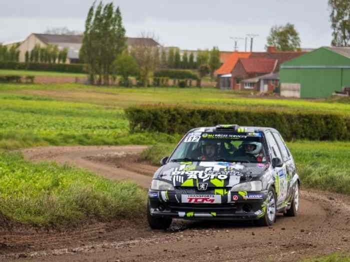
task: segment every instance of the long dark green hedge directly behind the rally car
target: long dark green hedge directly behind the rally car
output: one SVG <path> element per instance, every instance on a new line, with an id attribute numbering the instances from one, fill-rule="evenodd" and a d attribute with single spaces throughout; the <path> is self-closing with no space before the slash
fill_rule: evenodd
<path id="1" fill-rule="evenodd" d="M 242 111 L 219 108 L 190 108 L 142 105 L 125 109 L 130 131 L 183 134 L 194 127 L 217 124 L 262 126 L 277 129 L 287 141 L 350 140 L 350 118 L 335 114 Z"/>

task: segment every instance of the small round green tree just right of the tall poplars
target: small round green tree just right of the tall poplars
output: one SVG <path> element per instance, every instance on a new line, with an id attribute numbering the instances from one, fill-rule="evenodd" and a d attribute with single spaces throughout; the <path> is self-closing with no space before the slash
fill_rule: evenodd
<path id="1" fill-rule="evenodd" d="M 121 75 L 124 86 L 129 86 L 129 76 L 136 76 L 139 72 L 135 58 L 127 53 L 120 54 L 113 62 L 113 66 L 115 74 Z"/>

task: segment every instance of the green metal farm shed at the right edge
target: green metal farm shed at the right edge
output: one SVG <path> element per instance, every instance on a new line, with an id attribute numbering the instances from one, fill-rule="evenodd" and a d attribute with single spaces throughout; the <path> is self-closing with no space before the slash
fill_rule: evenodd
<path id="1" fill-rule="evenodd" d="M 320 47 L 280 66 L 281 95 L 324 98 L 350 87 L 350 47 Z"/>

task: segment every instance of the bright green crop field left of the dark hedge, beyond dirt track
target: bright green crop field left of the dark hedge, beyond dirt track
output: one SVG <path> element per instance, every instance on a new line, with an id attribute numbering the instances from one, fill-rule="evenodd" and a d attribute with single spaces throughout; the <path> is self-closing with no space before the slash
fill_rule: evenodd
<path id="1" fill-rule="evenodd" d="M 125 145 L 173 141 L 166 134 L 130 134 L 120 108 L 0 94 L 0 148 L 44 145 Z"/>

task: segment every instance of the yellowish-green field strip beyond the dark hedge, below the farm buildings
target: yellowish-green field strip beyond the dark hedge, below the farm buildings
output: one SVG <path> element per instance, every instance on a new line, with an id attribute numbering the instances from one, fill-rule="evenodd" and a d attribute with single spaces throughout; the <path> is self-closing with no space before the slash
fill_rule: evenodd
<path id="1" fill-rule="evenodd" d="M 332 100 L 300 100 L 242 97 L 246 92 L 222 91 L 216 88 L 124 88 L 91 87 L 82 84 L 16 85 L 1 84 L 0 94 L 40 96 L 57 101 L 89 103 L 125 108 L 135 104 L 181 104 L 235 109 L 269 109 L 277 111 L 310 111 L 350 115 L 350 104 Z"/>

